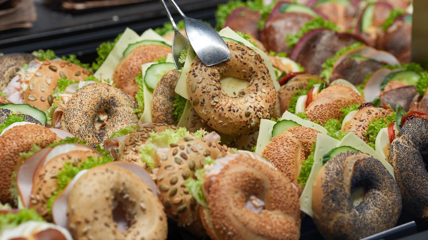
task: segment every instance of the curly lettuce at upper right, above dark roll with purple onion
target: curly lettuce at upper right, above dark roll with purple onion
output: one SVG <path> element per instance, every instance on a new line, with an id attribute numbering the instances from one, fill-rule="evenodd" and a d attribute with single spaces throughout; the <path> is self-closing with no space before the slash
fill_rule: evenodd
<path id="1" fill-rule="evenodd" d="M 300 27 L 300 31 L 293 34 L 293 35 L 286 35 L 285 36 L 285 42 L 287 43 L 289 48 L 294 47 L 294 45 L 297 44 L 297 42 L 302 38 L 303 35 L 305 35 L 306 32 L 309 32 L 310 30 L 317 29 L 317 28 L 327 28 L 331 29 L 333 31 L 340 31 L 340 28 L 336 26 L 333 21 L 329 20 L 326 21 L 324 18 L 316 17 L 313 20 L 305 23 L 304 26 Z"/>

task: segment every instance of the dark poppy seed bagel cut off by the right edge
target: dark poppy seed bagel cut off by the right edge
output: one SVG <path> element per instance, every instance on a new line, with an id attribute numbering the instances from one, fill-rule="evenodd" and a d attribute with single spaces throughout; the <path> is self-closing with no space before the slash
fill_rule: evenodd
<path id="1" fill-rule="evenodd" d="M 404 124 L 389 146 L 388 162 L 403 197 L 403 208 L 415 217 L 428 217 L 428 120 L 415 118 Z"/>

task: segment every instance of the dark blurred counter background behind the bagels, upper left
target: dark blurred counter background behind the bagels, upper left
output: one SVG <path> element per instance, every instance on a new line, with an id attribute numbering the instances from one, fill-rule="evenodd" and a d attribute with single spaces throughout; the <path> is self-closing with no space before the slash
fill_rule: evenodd
<path id="1" fill-rule="evenodd" d="M 176 1 L 186 15 L 213 26 L 217 4 L 227 2 Z M 58 56 L 75 54 L 92 62 L 96 47 L 126 27 L 141 34 L 166 21 L 158 0 L 0 0 L 0 53 L 52 49 Z"/>

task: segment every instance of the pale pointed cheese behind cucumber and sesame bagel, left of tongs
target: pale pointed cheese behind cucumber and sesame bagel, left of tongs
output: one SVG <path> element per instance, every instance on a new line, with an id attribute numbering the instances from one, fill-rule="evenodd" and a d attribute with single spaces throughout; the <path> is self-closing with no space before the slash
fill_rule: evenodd
<path id="1" fill-rule="evenodd" d="M 123 32 L 122 36 L 119 38 L 117 43 L 114 45 L 113 49 L 110 51 L 109 55 L 101 64 L 100 68 L 94 73 L 94 76 L 97 78 L 103 79 L 113 79 L 113 73 L 116 69 L 117 64 L 119 64 L 120 60 L 123 57 L 123 52 L 126 50 L 129 44 L 133 44 L 143 40 L 158 40 L 163 41 L 167 44 L 170 44 L 165 38 L 162 38 L 159 34 L 157 34 L 153 29 L 147 29 L 140 36 L 134 30 L 130 28 L 126 28 L 125 32 Z"/>

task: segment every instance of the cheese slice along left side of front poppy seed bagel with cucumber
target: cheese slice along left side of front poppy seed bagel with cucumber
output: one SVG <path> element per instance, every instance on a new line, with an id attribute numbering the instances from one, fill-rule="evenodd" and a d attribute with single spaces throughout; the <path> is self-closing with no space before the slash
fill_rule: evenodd
<path id="1" fill-rule="evenodd" d="M 339 146 L 340 141 L 325 134 L 318 133 L 317 142 L 314 152 L 314 164 L 312 165 L 311 173 L 309 173 L 308 181 L 300 195 L 300 210 L 312 217 L 312 192 L 314 188 L 315 178 L 321 170 L 322 157 L 331 149 Z"/>

